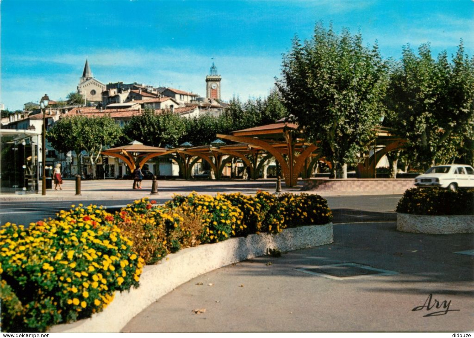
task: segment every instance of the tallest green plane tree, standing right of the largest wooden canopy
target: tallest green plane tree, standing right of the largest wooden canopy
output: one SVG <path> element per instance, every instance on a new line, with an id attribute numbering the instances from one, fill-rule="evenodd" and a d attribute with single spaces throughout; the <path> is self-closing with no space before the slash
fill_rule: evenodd
<path id="1" fill-rule="evenodd" d="M 338 36 L 318 23 L 311 40 L 294 38 L 282 75 L 276 85 L 286 109 L 310 141 L 320 142 L 332 177 L 346 177 L 346 165 L 360 161 L 382 116 L 387 76 L 378 46 L 370 50 L 360 33 L 345 28 Z"/>

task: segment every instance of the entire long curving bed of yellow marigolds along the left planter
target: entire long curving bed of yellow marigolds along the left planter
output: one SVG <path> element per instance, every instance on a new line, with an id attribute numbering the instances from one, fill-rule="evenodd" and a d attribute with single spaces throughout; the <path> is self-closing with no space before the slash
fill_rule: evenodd
<path id="1" fill-rule="evenodd" d="M 2 330 L 45 331 L 90 317 L 114 292 L 138 286 L 144 261 L 154 264 L 181 248 L 331 218 L 327 202 L 315 195 L 192 193 L 164 206 L 144 198 L 115 215 L 80 205 L 28 228 L 6 224 L 0 229 Z"/>

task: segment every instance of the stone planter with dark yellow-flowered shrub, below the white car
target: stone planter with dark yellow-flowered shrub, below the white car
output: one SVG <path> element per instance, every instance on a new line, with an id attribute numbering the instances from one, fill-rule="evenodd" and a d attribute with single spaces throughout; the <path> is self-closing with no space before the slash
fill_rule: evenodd
<path id="1" fill-rule="evenodd" d="M 397 205 L 397 230 L 427 234 L 474 233 L 474 189 L 407 190 Z"/>

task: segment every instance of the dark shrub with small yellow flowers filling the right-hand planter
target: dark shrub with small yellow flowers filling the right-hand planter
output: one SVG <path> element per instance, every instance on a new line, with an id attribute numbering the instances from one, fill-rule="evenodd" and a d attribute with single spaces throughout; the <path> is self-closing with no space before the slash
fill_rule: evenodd
<path id="1" fill-rule="evenodd" d="M 452 192 L 411 188 L 403 194 L 396 211 L 412 215 L 474 215 L 474 189 Z"/>

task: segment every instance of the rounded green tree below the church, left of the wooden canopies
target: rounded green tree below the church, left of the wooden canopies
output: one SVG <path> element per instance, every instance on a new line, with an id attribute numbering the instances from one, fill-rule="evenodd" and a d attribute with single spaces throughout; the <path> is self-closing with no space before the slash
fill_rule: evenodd
<path id="1" fill-rule="evenodd" d="M 61 153 L 74 150 L 77 163 L 79 154 L 85 150 L 91 159 L 92 178 L 96 178 L 96 163 L 100 152 L 114 145 L 122 134 L 122 129 L 109 116 L 88 118 L 76 115 L 58 120 L 46 137 Z"/>

